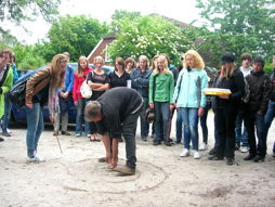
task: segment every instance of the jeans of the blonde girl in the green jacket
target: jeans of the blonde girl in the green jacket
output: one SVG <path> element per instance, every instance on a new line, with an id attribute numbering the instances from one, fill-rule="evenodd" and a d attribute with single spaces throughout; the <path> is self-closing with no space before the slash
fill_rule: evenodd
<path id="1" fill-rule="evenodd" d="M 156 140 L 167 140 L 168 138 L 168 120 L 170 116 L 170 103 L 168 102 L 155 102 L 155 132 L 156 132 Z M 161 128 L 162 126 L 162 128 Z M 161 129 L 163 132 L 161 133 Z"/>

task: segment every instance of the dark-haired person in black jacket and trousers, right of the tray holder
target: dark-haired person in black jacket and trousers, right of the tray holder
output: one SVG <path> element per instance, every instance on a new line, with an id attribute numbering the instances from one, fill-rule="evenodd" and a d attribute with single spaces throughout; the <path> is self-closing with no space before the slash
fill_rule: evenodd
<path id="1" fill-rule="evenodd" d="M 266 155 L 266 139 L 263 138 L 263 128 L 264 115 L 266 114 L 271 95 L 271 79 L 264 74 L 263 68 L 264 60 L 256 57 L 251 74 L 246 77 L 250 95 L 244 119 L 248 133 L 249 155 L 244 159 L 253 159 L 257 163 L 264 161 Z M 254 128 L 257 129 L 258 146 L 256 144 Z"/>

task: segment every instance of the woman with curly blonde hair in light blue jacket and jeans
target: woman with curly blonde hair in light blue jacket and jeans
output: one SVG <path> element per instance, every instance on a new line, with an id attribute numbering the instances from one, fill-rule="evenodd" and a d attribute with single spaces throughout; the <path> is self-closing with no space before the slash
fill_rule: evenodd
<path id="1" fill-rule="evenodd" d="M 207 100 L 202 90 L 208 87 L 205 63 L 195 50 L 184 54 L 183 68 L 179 74 L 173 94 L 173 103 L 178 116 L 183 120 L 184 148 L 180 156 L 189 155 L 189 142 L 194 151 L 194 158 L 200 158 L 198 153 L 198 117 L 204 115 Z"/>

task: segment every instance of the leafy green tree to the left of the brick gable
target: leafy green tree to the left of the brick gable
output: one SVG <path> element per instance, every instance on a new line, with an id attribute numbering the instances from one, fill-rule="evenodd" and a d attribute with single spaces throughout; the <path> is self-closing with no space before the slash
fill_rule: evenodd
<path id="1" fill-rule="evenodd" d="M 105 23 L 86 15 L 60 17 L 48 34 L 44 57 L 51 60 L 54 54 L 67 51 L 71 61 L 77 61 L 80 55 L 88 55 L 107 33 Z"/>

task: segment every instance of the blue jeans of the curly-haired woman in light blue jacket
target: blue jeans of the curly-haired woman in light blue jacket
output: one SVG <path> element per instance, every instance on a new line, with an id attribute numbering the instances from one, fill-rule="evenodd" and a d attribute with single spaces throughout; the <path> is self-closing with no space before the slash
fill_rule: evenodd
<path id="1" fill-rule="evenodd" d="M 182 107 L 180 112 L 183 117 L 184 148 L 189 150 L 192 141 L 193 150 L 198 151 L 198 108 Z"/>

